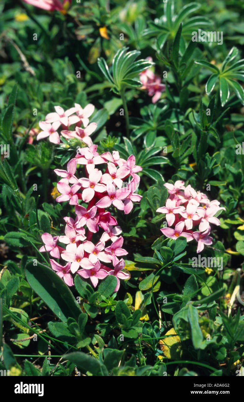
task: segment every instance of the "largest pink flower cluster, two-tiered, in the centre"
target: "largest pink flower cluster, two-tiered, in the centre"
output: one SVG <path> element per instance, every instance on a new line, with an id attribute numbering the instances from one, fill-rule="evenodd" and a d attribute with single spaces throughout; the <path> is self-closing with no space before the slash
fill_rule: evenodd
<path id="1" fill-rule="evenodd" d="M 140 182 L 137 172 L 142 168 L 136 166 L 135 162 L 133 155 L 124 160 L 117 151 L 99 155 L 97 146 L 92 145 L 89 148 L 79 148 L 75 158 L 68 162 L 67 170 L 55 169 L 62 177 L 57 183 L 61 195 L 56 201 L 69 201 L 69 204 L 75 205 L 76 217 L 64 217 L 64 236 L 53 237 L 44 233 L 42 240 L 45 246 L 39 251 L 47 250 L 52 257 L 65 260 L 65 266 L 53 259 L 50 261 L 52 268 L 63 277 L 67 285 L 73 285 L 71 273 L 77 273 L 85 279 L 90 278 L 94 287 L 99 279 L 114 275 L 117 278 L 115 291 L 118 291 L 120 279 L 130 277 L 128 271 L 124 270 L 123 258 L 118 258 L 128 254 L 122 248 L 122 230 L 115 217 L 106 209 L 114 205 L 127 214 L 132 210 L 133 202 L 140 202 L 142 197 L 136 193 Z M 104 173 L 95 167 L 102 164 L 106 165 Z M 85 166 L 86 177 L 75 176 L 77 165 Z M 79 200 L 88 205 L 80 205 Z M 102 234 L 96 236 L 98 241 L 94 243 L 92 237 L 99 230 L 102 230 Z M 65 244 L 66 248 L 57 245 L 58 241 Z"/>

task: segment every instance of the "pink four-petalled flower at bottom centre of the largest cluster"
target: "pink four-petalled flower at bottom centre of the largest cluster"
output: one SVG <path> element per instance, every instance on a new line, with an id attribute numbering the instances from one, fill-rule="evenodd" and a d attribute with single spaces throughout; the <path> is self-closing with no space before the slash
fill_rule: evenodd
<path id="1" fill-rule="evenodd" d="M 98 284 L 98 279 L 104 279 L 108 276 L 108 272 L 104 269 L 101 269 L 101 264 L 99 260 L 95 260 L 93 258 L 93 254 L 89 255 L 89 258 L 83 258 L 82 267 L 77 271 L 77 274 L 81 275 L 83 278 L 91 279 L 91 283 L 94 287 Z"/>

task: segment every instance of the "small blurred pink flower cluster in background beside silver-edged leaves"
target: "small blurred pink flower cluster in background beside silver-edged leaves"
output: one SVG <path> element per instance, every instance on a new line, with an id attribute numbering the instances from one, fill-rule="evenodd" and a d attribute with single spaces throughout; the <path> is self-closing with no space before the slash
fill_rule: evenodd
<path id="1" fill-rule="evenodd" d="M 150 62 L 153 61 L 152 57 L 147 57 L 146 59 Z M 165 91 L 165 84 L 162 84 L 161 78 L 154 74 L 150 68 L 142 71 L 139 75 L 143 84 L 142 89 L 146 89 L 148 95 L 153 96 L 152 103 L 156 103 L 160 99 L 161 93 Z"/>

